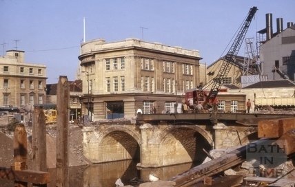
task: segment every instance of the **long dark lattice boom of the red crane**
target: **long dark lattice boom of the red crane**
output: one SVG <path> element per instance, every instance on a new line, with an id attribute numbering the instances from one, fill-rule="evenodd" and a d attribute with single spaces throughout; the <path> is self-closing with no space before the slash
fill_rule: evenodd
<path id="1" fill-rule="evenodd" d="M 218 94 L 219 89 L 221 89 L 222 80 L 227 76 L 227 74 L 230 72 L 230 68 L 232 67 L 232 63 L 235 63 L 234 56 L 238 54 L 238 51 L 241 48 L 241 45 L 243 43 L 243 40 L 245 39 L 245 35 L 247 33 L 247 30 L 250 26 L 250 23 L 254 17 L 254 14 L 257 11 L 257 7 L 254 6 L 250 8 L 250 11 L 247 14 L 247 18 L 243 22 L 243 25 L 241 29 L 239 30 L 238 34 L 236 35 L 236 38 L 234 39 L 234 42 L 232 43 L 232 46 L 230 47 L 230 50 L 227 52 L 225 57 L 223 58 L 223 63 L 221 65 L 221 69 L 219 69 L 218 74 L 213 79 L 213 85 L 212 88 L 207 96 L 207 99 L 205 103 L 207 102 L 213 102 Z"/>

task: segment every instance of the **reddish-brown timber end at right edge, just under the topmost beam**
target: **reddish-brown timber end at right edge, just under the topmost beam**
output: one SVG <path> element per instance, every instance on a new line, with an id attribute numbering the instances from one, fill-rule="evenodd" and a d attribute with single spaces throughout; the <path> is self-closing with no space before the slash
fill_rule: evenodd
<path id="1" fill-rule="evenodd" d="M 282 148 L 287 155 L 295 153 L 295 129 L 287 131 L 287 133 L 283 134 L 278 140 L 276 140 L 276 144 L 280 148 Z"/>

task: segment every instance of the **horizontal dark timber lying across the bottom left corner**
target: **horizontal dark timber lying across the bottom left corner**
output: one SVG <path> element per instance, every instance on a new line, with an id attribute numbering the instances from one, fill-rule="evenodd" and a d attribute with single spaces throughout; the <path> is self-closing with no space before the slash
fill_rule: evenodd
<path id="1" fill-rule="evenodd" d="M 0 168 L 0 179 L 21 181 L 22 183 L 48 184 L 50 182 L 50 175 L 48 172 L 43 171 Z"/>

